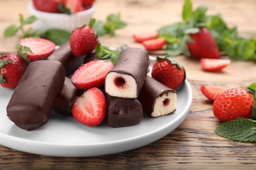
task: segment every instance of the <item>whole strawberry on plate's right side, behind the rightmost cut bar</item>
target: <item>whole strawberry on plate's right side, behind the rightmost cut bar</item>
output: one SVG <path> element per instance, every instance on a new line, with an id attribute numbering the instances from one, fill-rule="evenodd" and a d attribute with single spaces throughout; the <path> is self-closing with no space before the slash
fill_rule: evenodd
<path id="1" fill-rule="evenodd" d="M 186 78 L 184 68 L 172 58 L 157 57 L 156 63 L 152 67 L 152 77 L 165 86 L 177 90 Z"/>

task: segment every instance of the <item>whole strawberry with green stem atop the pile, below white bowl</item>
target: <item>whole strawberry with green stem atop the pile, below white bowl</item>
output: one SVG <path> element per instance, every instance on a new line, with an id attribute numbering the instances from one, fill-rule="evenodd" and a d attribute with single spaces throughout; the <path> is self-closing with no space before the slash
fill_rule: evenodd
<path id="1" fill-rule="evenodd" d="M 95 34 L 93 24 L 95 20 L 91 20 L 89 25 L 77 27 L 70 37 L 70 47 L 76 57 L 90 54 L 98 45 L 98 36 Z"/>

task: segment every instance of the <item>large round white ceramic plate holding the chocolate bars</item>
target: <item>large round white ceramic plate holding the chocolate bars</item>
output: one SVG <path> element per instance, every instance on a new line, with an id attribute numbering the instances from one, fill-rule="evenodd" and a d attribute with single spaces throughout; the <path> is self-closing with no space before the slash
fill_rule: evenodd
<path id="1" fill-rule="evenodd" d="M 98 127 L 89 127 L 53 112 L 45 126 L 25 131 L 7 117 L 11 95 L 12 90 L 0 87 L 0 144 L 33 154 L 66 157 L 114 154 L 150 144 L 178 127 L 192 103 L 191 86 L 186 80 L 177 91 L 177 110 L 173 114 L 144 116 L 136 126 L 112 128 L 102 122 Z"/>

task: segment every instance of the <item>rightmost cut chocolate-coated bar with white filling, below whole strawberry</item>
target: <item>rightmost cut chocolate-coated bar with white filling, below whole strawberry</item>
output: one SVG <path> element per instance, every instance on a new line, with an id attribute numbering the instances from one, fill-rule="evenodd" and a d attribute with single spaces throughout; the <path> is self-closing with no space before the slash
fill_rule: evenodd
<path id="1" fill-rule="evenodd" d="M 177 93 L 175 90 L 150 76 L 146 76 L 138 99 L 144 112 L 148 112 L 152 117 L 170 114 L 176 110 Z"/>

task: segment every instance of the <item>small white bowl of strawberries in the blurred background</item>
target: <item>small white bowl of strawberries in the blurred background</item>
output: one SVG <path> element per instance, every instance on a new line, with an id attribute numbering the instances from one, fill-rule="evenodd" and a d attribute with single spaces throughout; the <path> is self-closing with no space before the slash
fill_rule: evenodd
<path id="1" fill-rule="evenodd" d="M 95 11 L 95 5 L 90 9 L 69 15 L 36 10 L 32 1 L 30 1 L 28 3 L 28 10 L 30 15 L 37 17 L 37 21 L 33 23 L 35 30 L 58 28 L 73 31 L 79 25 L 89 24 L 93 12 Z"/>

